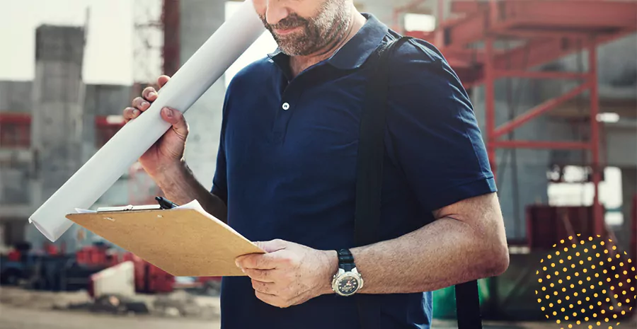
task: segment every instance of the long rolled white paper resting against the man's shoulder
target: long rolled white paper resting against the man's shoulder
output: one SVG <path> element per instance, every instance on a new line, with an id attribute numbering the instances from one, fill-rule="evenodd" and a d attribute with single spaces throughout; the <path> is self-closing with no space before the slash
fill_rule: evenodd
<path id="1" fill-rule="evenodd" d="M 252 0 L 246 0 L 161 88 L 151 107 L 122 127 L 29 222 L 56 241 L 73 224 L 67 214 L 91 207 L 168 130 L 170 124 L 161 119 L 161 108 L 188 110 L 264 31 Z"/>

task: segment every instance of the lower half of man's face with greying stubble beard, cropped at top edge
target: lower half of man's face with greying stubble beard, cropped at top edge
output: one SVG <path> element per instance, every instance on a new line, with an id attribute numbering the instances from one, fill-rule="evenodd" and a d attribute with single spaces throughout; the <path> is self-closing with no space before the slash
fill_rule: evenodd
<path id="1" fill-rule="evenodd" d="M 279 48 L 289 56 L 314 54 L 345 34 L 348 0 L 254 0 Z"/>

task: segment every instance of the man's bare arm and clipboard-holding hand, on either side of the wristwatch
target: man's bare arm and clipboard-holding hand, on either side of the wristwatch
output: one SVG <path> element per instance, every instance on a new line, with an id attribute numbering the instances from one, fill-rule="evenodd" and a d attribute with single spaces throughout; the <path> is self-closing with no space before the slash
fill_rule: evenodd
<path id="1" fill-rule="evenodd" d="M 360 294 L 431 292 L 500 275 L 509 253 L 495 193 L 472 197 L 435 212 L 436 221 L 389 241 L 352 248 L 365 280 Z M 251 277 L 256 296 L 279 307 L 331 294 L 338 270 L 334 250 L 288 241 L 258 243 L 265 255 L 246 255 L 237 265 Z"/>

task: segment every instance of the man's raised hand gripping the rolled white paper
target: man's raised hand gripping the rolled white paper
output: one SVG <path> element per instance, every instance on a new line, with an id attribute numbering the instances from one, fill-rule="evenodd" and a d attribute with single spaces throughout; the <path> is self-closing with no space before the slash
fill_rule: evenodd
<path id="1" fill-rule="evenodd" d="M 157 79 L 159 88 L 168 83 L 168 76 L 160 76 Z M 150 108 L 151 103 L 157 99 L 155 88 L 148 87 L 142 91 L 142 97 L 137 97 L 132 101 L 132 107 L 125 108 L 124 119 L 126 122 L 134 120 L 145 110 Z M 139 163 L 144 170 L 152 177 L 161 175 L 167 168 L 178 165 L 183 159 L 186 137 L 188 137 L 188 124 L 181 112 L 172 108 L 161 109 L 161 118 L 173 125 L 171 129 L 163 134 L 159 140 L 151 146 L 146 153 L 139 157 Z"/>

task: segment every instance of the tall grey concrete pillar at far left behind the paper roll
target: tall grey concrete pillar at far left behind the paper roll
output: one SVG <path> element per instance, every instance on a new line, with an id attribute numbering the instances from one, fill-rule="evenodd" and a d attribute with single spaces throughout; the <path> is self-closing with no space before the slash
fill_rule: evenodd
<path id="1" fill-rule="evenodd" d="M 34 209 L 79 169 L 82 160 L 84 30 L 42 25 L 36 30 L 31 147 L 36 158 Z M 81 191 L 78 191 L 81 192 Z M 69 230 L 67 247 L 74 241 Z M 44 236 L 33 226 L 27 233 L 36 248 Z M 70 236 L 70 238 L 69 238 Z"/>

